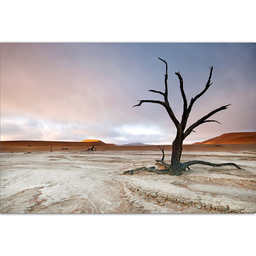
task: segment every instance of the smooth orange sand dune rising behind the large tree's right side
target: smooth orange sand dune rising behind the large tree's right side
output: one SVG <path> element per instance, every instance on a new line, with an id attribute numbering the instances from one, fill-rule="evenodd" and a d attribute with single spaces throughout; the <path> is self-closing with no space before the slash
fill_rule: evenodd
<path id="1" fill-rule="evenodd" d="M 218 137 L 202 142 L 193 143 L 197 145 L 203 144 L 255 144 L 256 132 L 230 132 L 224 133 Z"/>

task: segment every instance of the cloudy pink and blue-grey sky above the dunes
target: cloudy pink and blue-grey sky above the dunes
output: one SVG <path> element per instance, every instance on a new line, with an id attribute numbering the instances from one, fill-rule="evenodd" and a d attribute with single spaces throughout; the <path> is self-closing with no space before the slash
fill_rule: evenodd
<path id="1" fill-rule="evenodd" d="M 255 43 L 1 43 L 1 140 L 172 144 L 176 128 L 163 106 L 168 62 L 169 102 L 178 120 L 183 101 L 213 84 L 194 104 L 193 124 L 232 104 L 189 135 L 185 144 L 228 132 L 256 131 Z"/>

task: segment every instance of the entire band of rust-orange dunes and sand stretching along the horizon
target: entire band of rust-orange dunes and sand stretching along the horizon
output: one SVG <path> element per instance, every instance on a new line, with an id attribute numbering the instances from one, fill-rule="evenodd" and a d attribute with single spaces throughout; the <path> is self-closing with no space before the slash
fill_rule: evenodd
<path id="1" fill-rule="evenodd" d="M 255 150 L 256 144 L 256 132 L 232 132 L 224 133 L 218 137 L 212 138 L 210 140 L 205 140 L 202 142 L 196 142 L 192 145 L 183 145 L 184 150 L 194 150 L 194 151 L 221 151 L 224 150 L 224 147 L 212 147 L 211 144 L 227 144 L 227 147 L 232 147 L 232 150 L 237 150 L 237 147 L 242 150 L 241 147 L 244 147 L 249 150 Z M 230 144 L 230 146 L 228 146 Z M 232 145 L 233 144 L 233 145 Z M 237 144 L 237 145 L 235 145 Z M 239 144 L 244 144 L 244 146 L 239 146 Z M 247 146 L 246 146 L 247 144 Z M 251 145 L 249 145 L 251 144 Z M 39 140 L 10 140 L 10 141 L 1 141 L 1 152 L 47 152 L 50 151 L 51 147 L 53 151 L 63 151 L 63 148 L 67 148 L 68 151 L 83 151 L 88 147 L 94 147 L 97 151 L 125 151 L 125 150 L 153 150 L 159 151 L 157 145 L 143 144 L 140 142 L 133 142 L 124 145 L 115 145 L 112 143 L 104 143 L 101 140 L 82 140 L 78 141 L 39 141 Z M 204 146 L 201 146 L 204 145 Z M 207 146 L 208 145 L 208 146 Z M 231 146 L 232 145 L 232 146 Z M 164 145 L 165 150 L 172 150 L 172 145 Z M 231 150 L 231 149 L 230 149 Z"/>

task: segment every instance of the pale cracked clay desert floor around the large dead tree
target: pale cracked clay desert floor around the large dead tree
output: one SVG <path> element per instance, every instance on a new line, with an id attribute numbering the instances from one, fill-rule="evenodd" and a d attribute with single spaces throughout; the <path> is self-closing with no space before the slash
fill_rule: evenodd
<path id="1" fill-rule="evenodd" d="M 156 166 L 154 158 L 161 158 L 157 147 L 154 151 L 142 147 L 140 151 L 3 152 L 1 213 L 256 212 L 254 148 L 212 146 L 212 151 L 193 151 L 190 147 L 183 151 L 182 162 L 234 162 L 245 170 L 193 165 L 179 177 L 123 174 Z M 168 162 L 171 151 L 165 155 Z"/>

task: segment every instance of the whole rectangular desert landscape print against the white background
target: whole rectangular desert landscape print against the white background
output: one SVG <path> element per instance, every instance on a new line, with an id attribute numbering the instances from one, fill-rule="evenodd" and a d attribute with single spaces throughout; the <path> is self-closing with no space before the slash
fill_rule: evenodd
<path id="1" fill-rule="evenodd" d="M 256 212 L 255 67 L 252 43 L 2 43 L 1 213 Z"/>

